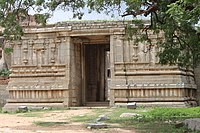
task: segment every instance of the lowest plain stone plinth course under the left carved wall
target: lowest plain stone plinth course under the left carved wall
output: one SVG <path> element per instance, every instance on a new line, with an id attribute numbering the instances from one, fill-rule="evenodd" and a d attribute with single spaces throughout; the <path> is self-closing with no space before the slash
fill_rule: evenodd
<path id="1" fill-rule="evenodd" d="M 26 106 L 28 109 L 34 108 L 63 108 L 63 103 L 7 103 L 2 110 L 4 112 L 16 112 L 20 106 Z"/>

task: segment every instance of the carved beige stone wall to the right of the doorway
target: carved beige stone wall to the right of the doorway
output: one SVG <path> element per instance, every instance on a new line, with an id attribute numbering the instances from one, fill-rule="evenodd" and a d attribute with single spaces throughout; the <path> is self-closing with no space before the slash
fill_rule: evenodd
<path id="1" fill-rule="evenodd" d="M 153 34 L 150 38 L 157 39 Z M 135 45 L 123 35 L 111 36 L 111 105 L 196 105 L 193 71 L 160 65 L 155 42 L 148 50 L 148 43 Z"/>

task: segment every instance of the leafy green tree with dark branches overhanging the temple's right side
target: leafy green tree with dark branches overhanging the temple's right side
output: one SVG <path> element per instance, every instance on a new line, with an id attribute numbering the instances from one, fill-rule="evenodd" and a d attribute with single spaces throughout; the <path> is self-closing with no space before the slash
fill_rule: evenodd
<path id="1" fill-rule="evenodd" d="M 120 10 L 122 5 L 126 5 L 123 17 L 143 15 L 150 18 L 150 25 L 146 27 L 141 21 L 133 21 L 139 25 L 137 31 L 129 30 L 135 36 L 140 35 L 136 42 L 148 41 L 151 45 L 148 31 L 164 33 L 164 39 L 157 41 L 161 48 L 160 63 L 186 67 L 200 63 L 199 0 L 88 0 L 88 7 L 97 12 L 109 12 L 107 7 Z"/>

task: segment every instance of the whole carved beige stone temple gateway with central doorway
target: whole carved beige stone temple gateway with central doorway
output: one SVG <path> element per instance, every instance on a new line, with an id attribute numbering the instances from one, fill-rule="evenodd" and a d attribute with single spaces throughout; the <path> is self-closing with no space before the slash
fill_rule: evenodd
<path id="1" fill-rule="evenodd" d="M 126 39 L 127 24 L 82 21 L 26 28 L 22 40 L 12 44 L 4 109 L 131 102 L 196 105 L 199 90 L 193 70 L 160 65 L 156 39 L 162 35 L 150 35 L 155 44 L 148 50 L 148 44 Z"/>

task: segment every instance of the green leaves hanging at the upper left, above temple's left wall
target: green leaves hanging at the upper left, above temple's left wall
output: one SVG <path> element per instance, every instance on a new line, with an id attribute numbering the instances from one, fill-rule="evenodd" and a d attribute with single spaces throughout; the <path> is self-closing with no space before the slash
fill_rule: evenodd
<path id="1" fill-rule="evenodd" d="M 3 36 L 8 40 L 20 40 L 23 35 L 21 22 L 28 21 L 30 10 L 35 11 L 36 22 L 45 25 L 56 9 L 70 10 L 74 17 L 81 18 L 81 9 L 84 6 L 84 0 L 0 0 L 0 26 L 3 28 Z"/>

